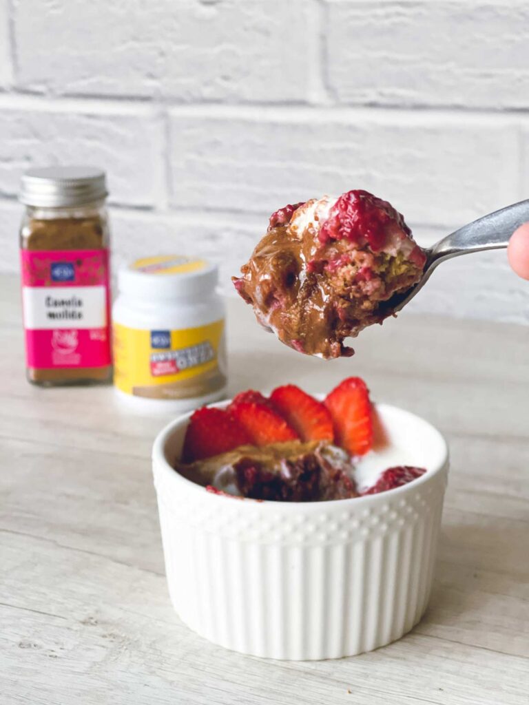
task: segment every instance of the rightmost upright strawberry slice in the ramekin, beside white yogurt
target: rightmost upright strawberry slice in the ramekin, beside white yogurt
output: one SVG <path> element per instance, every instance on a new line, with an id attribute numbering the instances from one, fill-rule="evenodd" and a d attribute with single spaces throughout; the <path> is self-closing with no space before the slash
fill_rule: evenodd
<path id="1" fill-rule="evenodd" d="M 327 395 L 334 441 L 351 455 L 363 455 L 373 444 L 373 414 L 369 390 L 360 377 L 348 377 Z"/>

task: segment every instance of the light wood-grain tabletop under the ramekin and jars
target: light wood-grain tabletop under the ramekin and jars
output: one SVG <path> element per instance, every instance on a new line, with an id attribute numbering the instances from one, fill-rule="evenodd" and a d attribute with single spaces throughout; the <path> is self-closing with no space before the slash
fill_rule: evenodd
<path id="1" fill-rule="evenodd" d="M 111 387 L 24 378 L 18 281 L 0 278 L 0 702 L 527 705 L 529 330 L 414 317 L 351 360 L 293 353 L 229 305 L 231 388 L 365 377 L 446 434 L 452 467 L 430 608 L 413 632 L 339 661 L 277 662 L 205 642 L 164 579 L 150 448 L 164 418 Z"/>

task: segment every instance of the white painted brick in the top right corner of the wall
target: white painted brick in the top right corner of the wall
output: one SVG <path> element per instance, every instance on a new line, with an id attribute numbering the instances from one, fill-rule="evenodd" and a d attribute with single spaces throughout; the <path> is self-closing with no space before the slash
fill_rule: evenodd
<path id="1" fill-rule="evenodd" d="M 340 102 L 529 107 L 526 2 L 338 1 L 328 12 Z"/>

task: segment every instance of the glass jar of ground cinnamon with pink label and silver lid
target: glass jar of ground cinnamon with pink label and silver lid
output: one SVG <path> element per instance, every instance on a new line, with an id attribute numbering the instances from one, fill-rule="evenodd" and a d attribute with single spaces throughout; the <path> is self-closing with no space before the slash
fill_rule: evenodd
<path id="1" fill-rule="evenodd" d="M 32 169 L 22 178 L 20 260 L 28 379 L 111 377 L 107 188 L 99 169 Z"/>

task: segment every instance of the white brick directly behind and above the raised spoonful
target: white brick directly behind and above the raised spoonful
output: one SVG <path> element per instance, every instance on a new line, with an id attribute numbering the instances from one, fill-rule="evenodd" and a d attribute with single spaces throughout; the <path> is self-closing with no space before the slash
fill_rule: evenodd
<path id="1" fill-rule="evenodd" d="M 519 143 L 509 118 L 336 108 L 210 114 L 171 112 L 175 208 L 267 214 L 361 184 L 411 223 L 457 226 L 518 197 Z"/>

